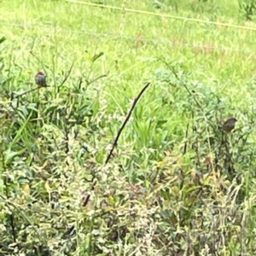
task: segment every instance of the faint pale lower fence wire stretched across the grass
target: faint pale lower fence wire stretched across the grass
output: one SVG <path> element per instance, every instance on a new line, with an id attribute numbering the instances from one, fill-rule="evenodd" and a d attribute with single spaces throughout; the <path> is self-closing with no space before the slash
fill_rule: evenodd
<path id="1" fill-rule="evenodd" d="M 85 30 L 71 30 L 71 29 L 65 29 L 55 26 L 38 26 L 38 25 L 26 25 L 26 24 L 20 24 L 20 23 L 8 23 L 8 22 L 1 22 L 0 25 L 3 26 L 15 26 L 20 29 L 35 29 L 38 31 L 42 30 L 48 30 L 48 31 L 55 31 L 55 32 L 67 32 L 67 33 L 73 33 L 73 34 L 81 34 L 81 35 L 88 35 L 91 37 L 98 37 L 98 38 L 109 38 L 109 39 L 126 39 L 131 40 L 131 42 L 136 42 L 137 37 L 131 37 L 131 36 L 125 36 L 125 35 L 118 35 L 112 33 L 100 33 L 100 32 L 90 32 Z M 196 44 L 189 44 L 189 43 L 183 43 L 183 42 L 176 42 L 172 41 L 168 38 L 146 38 L 142 37 L 140 38 L 140 41 L 143 43 L 151 43 L 151 44 L 166 44 L 166 45 L 172 45 L 172 46 L 180 46 L 180 47 L 186 47 L 190 49 L 210 49 L 210 50 L 217 50 L 217 51 L 225 51 L 225 52 L 237 52 L 237 53 L 246 53 L 246 54 L 252 54 L 254 53 L 253 50 L 250 49 L 233 49 L 226 46 L 209 46 L 205 45 L 203 43 L 196 43 Z"/>

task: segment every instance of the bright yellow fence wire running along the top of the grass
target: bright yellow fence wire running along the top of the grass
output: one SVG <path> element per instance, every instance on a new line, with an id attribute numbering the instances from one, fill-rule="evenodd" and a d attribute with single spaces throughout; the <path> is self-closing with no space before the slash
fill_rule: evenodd
<path id="1" fill-rule="evenodd" d="M 239 25 L 234 25 L 234 24 L 230 24 L 230 23 L 222 23 L 222 22 L 211 21 L 211 20 L 201 20 L 201 19 L 187 18 L 187 17 L 175 16 L 175 15 L 156 14 L 153 12 L 148 12 L 148 11 L 139 10 L 139 9 L 129 9 L 129 8 L 124 9 L 124 8 L 117 7 L 117 6 L 103 5 L 103 4 L 99 4 L 99 3 L 86 3 L 86 2 L 82 2 L 82 1 L 78 1 L 78 0 L 65 0 L 65 1 L 69 2 L 69 3 L 79 3 L 79 4 L 84 4 L 84 5 L 94 6 L 94 7 L 101 7 L 101 8 L 106 8 L 106 9 L 118 9 L 121 11 L 125 10 L 125 12 L 131 12 L 131 13 L 137 13 L 137 14 L 143 14 L 143 15 L 154 15 L 154 16 L 172 18 L 172 19 L 177 19 L 177 20 L 189 20 L 189 21 L 194 21 L 194 22 L 199 22 L 199 23 L 214 24 L 214 25 L 218 25 L 218 26 L 229 26 L 229 27 L 234 27 L 234 28 L 238 28 L 238 29 L 256 31 L 256 27 L 253 27 L 253 26 L 239 26 Z"/>

